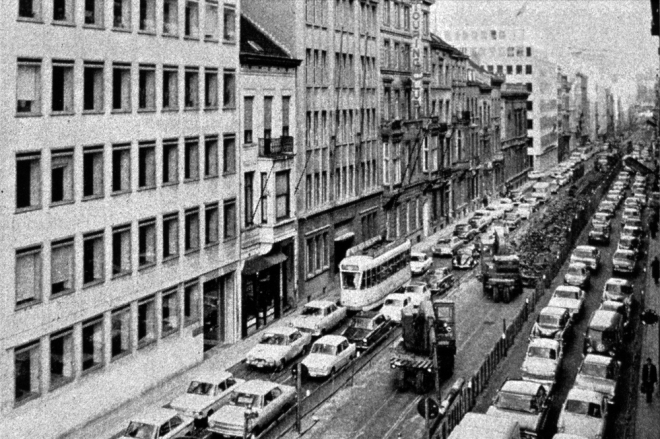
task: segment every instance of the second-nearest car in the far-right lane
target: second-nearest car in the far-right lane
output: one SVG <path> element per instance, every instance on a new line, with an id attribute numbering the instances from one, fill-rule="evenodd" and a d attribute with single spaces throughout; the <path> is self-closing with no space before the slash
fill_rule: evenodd
<path id="1" fill-rule="evenodd" d="M 582 360 L 575 386 L 602 393 L 609 404 L 614 404 L 620 374 L 620 361 L 605 355 L 588 354 Z"/>

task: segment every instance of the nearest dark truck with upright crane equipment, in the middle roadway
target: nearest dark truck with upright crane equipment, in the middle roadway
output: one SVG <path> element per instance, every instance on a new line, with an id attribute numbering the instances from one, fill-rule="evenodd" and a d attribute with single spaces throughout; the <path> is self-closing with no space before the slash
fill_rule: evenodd
<path id="1" fill-rule="evenodd" d="M 402 337 L 392 347 L 390 367 L 399 390 L 440 391 L 441 380 L 454 373 L 456 320 L 454 302 L 423 301 L 401 313 Z"/>

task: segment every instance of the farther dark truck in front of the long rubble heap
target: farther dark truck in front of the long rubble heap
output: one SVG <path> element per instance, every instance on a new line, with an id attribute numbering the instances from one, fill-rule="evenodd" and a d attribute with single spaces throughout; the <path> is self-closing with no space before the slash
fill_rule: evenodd
<path id="1" fill-rule="evenodd" d="M 509 303 L 522 294 L 520 258 L 505 245 L 505 235 L 493 233 L 481 240 L 481 282 L 494 302 Z"/>

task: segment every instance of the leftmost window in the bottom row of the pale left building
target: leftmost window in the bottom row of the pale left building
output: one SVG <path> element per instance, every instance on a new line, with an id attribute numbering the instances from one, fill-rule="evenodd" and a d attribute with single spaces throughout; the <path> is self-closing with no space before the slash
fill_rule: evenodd
<path id="1" fill-rule="evenodd" d="M 38 341 L 14 349 L 14 401 L 17 405 L 41 394 L 40 357 Z"/>

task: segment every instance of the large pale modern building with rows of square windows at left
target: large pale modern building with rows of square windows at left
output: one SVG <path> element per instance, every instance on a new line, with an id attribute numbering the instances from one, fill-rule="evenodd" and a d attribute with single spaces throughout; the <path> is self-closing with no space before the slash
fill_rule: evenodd
<path id="1" fill-rule="evenodd" d="M 63 435 L 239 337 L 239 13 L 6 5 L 0 412 L 31 422 L 0 436 Z"/>

